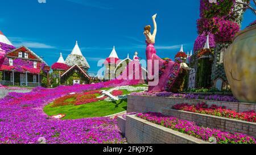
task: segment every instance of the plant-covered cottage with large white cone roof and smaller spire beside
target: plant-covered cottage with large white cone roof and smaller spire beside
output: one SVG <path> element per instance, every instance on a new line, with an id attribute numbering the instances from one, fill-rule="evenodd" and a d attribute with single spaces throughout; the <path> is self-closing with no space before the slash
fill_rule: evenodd
<path id="1" fill-rule="evenodd" d="M 59 60 L 52 65 L 51 86 L 88 84 L 90 83 L 89 68 L 90 66 L 76 41 L 75 47 L 66 60 L 64 61 L 62 53 L 60 53 Z"/>

